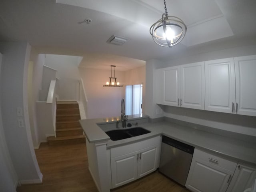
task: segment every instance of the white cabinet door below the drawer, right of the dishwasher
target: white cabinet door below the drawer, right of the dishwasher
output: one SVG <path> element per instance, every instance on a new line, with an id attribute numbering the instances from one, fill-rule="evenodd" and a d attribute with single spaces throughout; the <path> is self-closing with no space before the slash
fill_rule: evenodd
<path id="1" fill-rule="evenodd" d="M 186 187 L 193 192 L 225 192 L 233 172 L 193 157 Z"/>

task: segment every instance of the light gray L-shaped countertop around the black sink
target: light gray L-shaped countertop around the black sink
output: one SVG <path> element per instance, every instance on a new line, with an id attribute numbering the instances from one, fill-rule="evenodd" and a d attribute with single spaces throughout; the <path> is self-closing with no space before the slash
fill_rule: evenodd
<path id="1" fill-rule="evenodd" d="M 148 116 L 142 116 L 142 118 L 131 116 L 130 122 L 138 121 L 143 118 L 146 119 Z M 80 120 L 80 124 L 89 142 L 107 142 L 107 148 L 113 148 L 147 138 L 152 138 L 154 136 L 164 135 L 196 148 L 209 150 L 210 152 L 221 154 L 234 160 L 256 164 L 255 143 L 229 138 L 166 121 L 156 123 L 139 123 L 138 126 L 150 130 L 151 133 L 123 140 L 112 141 L 110 140 L 110 137 L 102 130 L 102 128 L 100 128 L 100 126 L 104 126 L 109 122 L 113 123 L 112 125 L 114 125 L 117 119 L 118 118 Z"/>

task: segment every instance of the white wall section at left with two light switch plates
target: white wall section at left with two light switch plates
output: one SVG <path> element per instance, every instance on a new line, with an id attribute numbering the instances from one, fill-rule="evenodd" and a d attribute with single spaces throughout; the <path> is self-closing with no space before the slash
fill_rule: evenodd
<path id="1" fill-rule="evenodd" d="M 30 45 L 2 42 L 1 111 L 6 143 L 14 168 L 21 183 L 42 182 L 30 133 L 27 98 L 27 70 Z M 22 116 L 17 116 L 17 108 Z M 18 120 L 24 127 L 18 126 Z"/>

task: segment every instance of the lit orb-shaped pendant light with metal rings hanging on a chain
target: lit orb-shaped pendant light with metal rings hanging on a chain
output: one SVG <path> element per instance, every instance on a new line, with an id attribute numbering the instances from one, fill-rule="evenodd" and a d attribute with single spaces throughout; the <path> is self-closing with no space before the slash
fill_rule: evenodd
<path id="1" fill-rule="evenodd" d="M 168 16 L 165 0 L 164 9 L 165 13 L 162 14 L 162 18 L 150 27 L 150 34 L 158 45 L 172 47 L 184 38 L 187 27 L 180 18 Z"/>

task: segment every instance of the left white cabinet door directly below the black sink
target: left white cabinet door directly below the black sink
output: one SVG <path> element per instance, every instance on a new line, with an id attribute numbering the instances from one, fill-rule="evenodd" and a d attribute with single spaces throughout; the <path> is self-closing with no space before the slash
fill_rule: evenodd
<path id="1" fill-rule="evenodd" d="M 112 188 L 137 179 L 138 151 L 111 158 Z"/>

